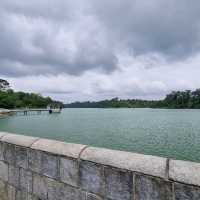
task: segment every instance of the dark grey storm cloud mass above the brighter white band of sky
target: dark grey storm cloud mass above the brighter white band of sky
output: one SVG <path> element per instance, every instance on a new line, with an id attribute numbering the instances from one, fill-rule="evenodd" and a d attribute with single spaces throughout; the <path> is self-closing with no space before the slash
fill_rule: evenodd
<path id="1" fill-rule="evenodd" d="M 2 0 L 0 74 L 114 71 L 123 53 L 166 60 L 200 48 L 200 2 Z"/>

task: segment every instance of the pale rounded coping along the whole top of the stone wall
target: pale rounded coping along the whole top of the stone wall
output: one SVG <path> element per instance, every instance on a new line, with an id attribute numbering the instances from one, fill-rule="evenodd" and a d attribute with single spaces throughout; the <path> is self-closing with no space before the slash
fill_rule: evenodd
<path id="1" fill-rule="evenodd" d="M 200 163 L 151 155 L 88 147 L 81 144 L 0 132 L 0 141 L 60 156 L 200 186 Z M 169 163 L 168 163 L 169 161 Z"/>

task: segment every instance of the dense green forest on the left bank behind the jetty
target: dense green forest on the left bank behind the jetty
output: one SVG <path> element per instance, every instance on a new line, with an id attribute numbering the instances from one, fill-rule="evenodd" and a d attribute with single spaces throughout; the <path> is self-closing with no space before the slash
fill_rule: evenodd
<path id="1" fill-rule="evenodd" d="M 40 94 L 15 92 L 6 80 L 0 79 L 0 108 L 42 108 L 47 105 L 57 107 L 62 103 Z"/>

